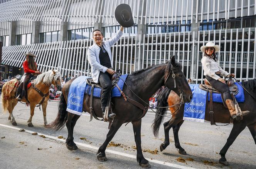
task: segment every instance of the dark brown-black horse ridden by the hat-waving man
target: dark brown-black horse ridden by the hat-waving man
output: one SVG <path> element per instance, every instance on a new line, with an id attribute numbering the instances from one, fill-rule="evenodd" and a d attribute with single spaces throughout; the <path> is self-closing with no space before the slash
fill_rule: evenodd
<path id="1" fill-rule="evenodd" d="M 73 79 L 72 79 L 73 80 Z M 59 105 L 59 113 L 57 118 L 50 124 L 50 127 L 55 129 L 63 128 L 66 123 L 68 136 L 66 139 L 66 146 L 69 150 L 77 149 L 76 144 L 73 141 L 73 129 L 76 124 L 77 119 L 80 117 L 76 114 L 72 114 L 66 111 L 67 108 L 67 96 L 69 93 L 69 87 L 72 83 L 72 80 L 68 81 L 62 89 L 61 102 Z M 121 79 L 120 79 L 121 80 Z M 187 80 L 182 72 L 181 66 L 179 63 L 175 63 L 174 56 L 171 61 L 168 61 L 167 64 L 156 65 L 152 68 L 147 68 L 145 70 L 136 71 L 131 75 L 128 75 L 126 79 L 126 85 L 123 87 L 123 92 L 126 94 L 126 98 L 129 97 L 142 105 L 145 106 L 147 111 L 148 99 L 154 94 L 161 86 L 167 86 L 168 88 L 175 91 L 180 96 L 183 96 L 184 101 L 190 102 L 192 98 L 192 92 L 187 83 Z M 177 87 L 176 87 L 177 85 Z M 129 87 L 128 87 L 129 86 Z M 136 95 L 137 96 L 136 96 Z M 87 102 L 86 102 L 87 99 Z M 89 101 L 90 98 L 84 97 L 83 100 L 83 111 L 89 112 Z M 101 112 L 101 101 L 100 99 L 93 99 L 93 107 L 96 115 L 102 117 Z M 121 98 L 113 98 L 113 112 L 116 113 L 116 117 L 112 123 L 111 128 L 107 134 L 105 142 L 98 150 L 98 160 L 106 161 L 105 150 L 108 146 L 108 143 L 115 136 L 118 129 L 123 123 L 131 122 L 133 124 L 133 132 L 135 136 L 135 142 L 137 147 L 137 161 L 140 166 L 149 168 L 150 164 L 143 157 L 141 151 L 141 118 L 143 117 L 143 110 L 135 106 L 134 104 L 125 101 Z M 144 114 L 145 115 L 145 114 Z M 97 130 L 95 128 L 95 130 Z"/>

